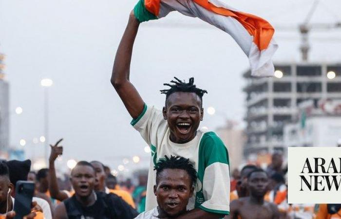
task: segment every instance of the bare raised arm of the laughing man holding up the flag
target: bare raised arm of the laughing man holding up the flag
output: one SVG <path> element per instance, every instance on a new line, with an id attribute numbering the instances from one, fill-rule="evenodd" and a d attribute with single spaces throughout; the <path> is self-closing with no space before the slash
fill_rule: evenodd
<path id="1" fill-rule="evenodd" d="M 111 83 L 123 101 L 129 114 L 136 119 L 144 108 L 144 102 L 129 80 L 133 44 L 139 27 L 133 11 L 129 16 L 126 30 L 118 46 L 114 61 Z"/>

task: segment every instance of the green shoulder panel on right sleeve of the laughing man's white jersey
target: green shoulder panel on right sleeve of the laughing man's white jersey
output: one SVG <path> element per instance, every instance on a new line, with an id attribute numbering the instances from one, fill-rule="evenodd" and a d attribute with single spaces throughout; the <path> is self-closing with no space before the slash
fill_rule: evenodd
<path id="1" fill-rule="evenodd" d="M 200 149 L 205 168 L 214 163 L 229 164 L 227 148 L 216 133 L 205 133 L 200 141 Z"/>

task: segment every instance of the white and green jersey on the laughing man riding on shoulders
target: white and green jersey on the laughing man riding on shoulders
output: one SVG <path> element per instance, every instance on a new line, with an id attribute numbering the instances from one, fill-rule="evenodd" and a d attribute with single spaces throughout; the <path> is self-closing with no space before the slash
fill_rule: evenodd
<path id="1" fill-rule="evenodd" d="M 169 156 L 189 158 L 198 172 L 194 195 L 190 198 L 187 210 L 202 210 L 229 214 L 229 160 L 227 148 L 220 138 L 211 131 L 198 129 L 193 140 L 185 144 L 170 141 L 170 128 L 161 110 L 145 105 L 141 115 L 131 123 L 151 147 L 152 158 L 148 174 L 146 211 L 157 206 L 153 186 L 156 184 L 156 171 L 153 170 L 159 159 Z"/>

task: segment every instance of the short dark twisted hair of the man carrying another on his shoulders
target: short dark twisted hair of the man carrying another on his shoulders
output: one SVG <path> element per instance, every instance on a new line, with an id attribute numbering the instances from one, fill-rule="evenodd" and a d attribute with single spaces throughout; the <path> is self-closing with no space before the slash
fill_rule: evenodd
<path id="1" fill-rule="evenodd" d="M 197 180 L 197 171 L 194 169 L 193 165 L 189 163 L 189 159 L 180 156 L 172 156 L 170 158 L 165 156 L 165 158 L 160 159 L 160 161 L 154 166 L 156 170 L 156 184 L 158 184 L 158 178 L 164 169 L 182 169 L 185 170 L 190 179 L 191 184 L 194 185 Z"/>

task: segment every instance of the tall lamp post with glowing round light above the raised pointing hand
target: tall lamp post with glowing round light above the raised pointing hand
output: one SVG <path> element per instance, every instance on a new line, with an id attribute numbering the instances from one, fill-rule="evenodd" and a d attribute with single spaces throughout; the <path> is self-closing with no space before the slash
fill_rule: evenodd
<path id="1" fill-rule="evenodd" d="M 45 162 L 47 162 L 47 148 L 49 146 L 49 87 L 53 85 L 53 81 L 50 78 L 44 78 L 40 81 L 40 85 L 44 88 L 44 158 Z"/>

